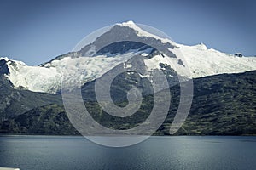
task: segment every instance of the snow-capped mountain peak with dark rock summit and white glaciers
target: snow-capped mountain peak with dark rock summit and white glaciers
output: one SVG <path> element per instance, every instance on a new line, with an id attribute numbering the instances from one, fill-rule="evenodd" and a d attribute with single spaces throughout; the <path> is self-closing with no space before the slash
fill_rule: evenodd
<path id="1" fill-rule="evenodd" d="M 132 37 L 131 41 L 125 41 L 127 37 Z M 177 50 L 185 60 L 177 58 Z M 236 57 L 216 49 L 208 49 L 203 43 L 195 46 L 177 44 L 144 31 L 134 22 L 128 21 L 114 25 L 81 50 L 63 54 L 39 66 L 28 66 L 20 61 L 0 58 L 0 74 L 8 77 L 14 88 L 56 93 L 61 89 L 63 74 L 67 76 L 64 81 L 72 78 L 86 83 L 137 56 L 143 56 L 145 69 L 148 71 L 165 70 L 167 67 L 173 69 L 175 65 L 185 67 L 183 64 L 186 62 L 192 77 L 256 70 L 256 57 Z"/>

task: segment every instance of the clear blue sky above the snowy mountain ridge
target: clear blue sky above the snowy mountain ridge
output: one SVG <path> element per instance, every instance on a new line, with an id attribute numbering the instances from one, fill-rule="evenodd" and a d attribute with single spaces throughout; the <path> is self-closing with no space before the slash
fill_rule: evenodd
<path id="1" fill-rule="evenodd" d="M 154 26 L 175 42 L 256 55 L 255 8 L 253 0 L 0 0 L 0 56 L 38 65 L 126 20 Z"/>

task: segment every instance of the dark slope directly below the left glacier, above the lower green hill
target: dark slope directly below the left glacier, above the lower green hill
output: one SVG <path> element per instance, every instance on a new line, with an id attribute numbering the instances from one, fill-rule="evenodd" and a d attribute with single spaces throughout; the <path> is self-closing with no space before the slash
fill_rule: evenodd
<path id="1" fill-rule="evenodd" d="M 61 96 L 12 88 L 11 82 L 0 74 L 0 121 L 52 103 L 61 105 Z"/>

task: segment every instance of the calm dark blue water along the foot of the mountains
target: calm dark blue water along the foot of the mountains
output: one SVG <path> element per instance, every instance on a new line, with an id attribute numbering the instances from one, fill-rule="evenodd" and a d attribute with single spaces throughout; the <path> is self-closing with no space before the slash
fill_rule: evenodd
<path id="1" fill-rule="evenodd" d="M 0 137 L 0 167 L 20 170 L 256 169 L 255 137 L 151 137 L 108 148 L 83 137 Z"/>

